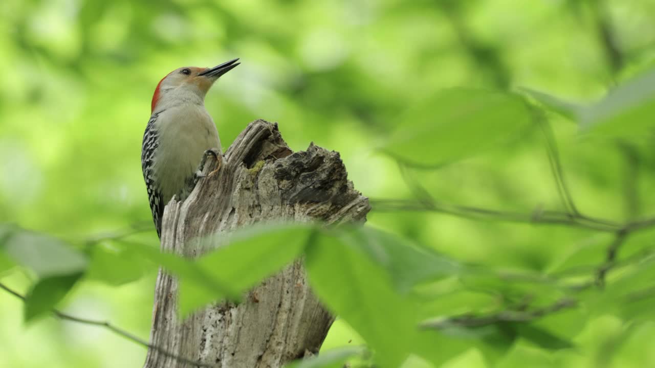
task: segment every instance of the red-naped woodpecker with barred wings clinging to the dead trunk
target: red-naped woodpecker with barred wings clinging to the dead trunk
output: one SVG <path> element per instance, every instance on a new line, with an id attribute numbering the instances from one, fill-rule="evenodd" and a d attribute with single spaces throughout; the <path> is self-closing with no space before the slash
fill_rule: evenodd
<path id="1" fill-rule="evenodd" d="M 201 160 L 221 153 L 218 130 L 204 107 L 204 97 L 221 75 L 240 64 L 237 60 L 211 68 L 175 69 L 155 88 L 141 145 L 141 169 L 157 236 L 161 237 L 164 206 L 173 196 L 187 198 Z"/>

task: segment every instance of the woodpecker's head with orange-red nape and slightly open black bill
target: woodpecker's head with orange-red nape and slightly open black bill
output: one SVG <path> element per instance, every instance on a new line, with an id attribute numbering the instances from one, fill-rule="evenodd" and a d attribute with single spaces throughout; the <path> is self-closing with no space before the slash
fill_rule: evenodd
<path id="1" fill-rule="evenodd" d="M 230 60 L 215 67 L 180 67 L 168 73 L 155 88 L 152 112 L 162 101 L 176 103 L 176 101 L 204 100 L 204 96 L 214 82 L 221 75 L 231 71 L 239 65 L 238 59 Z"/>

